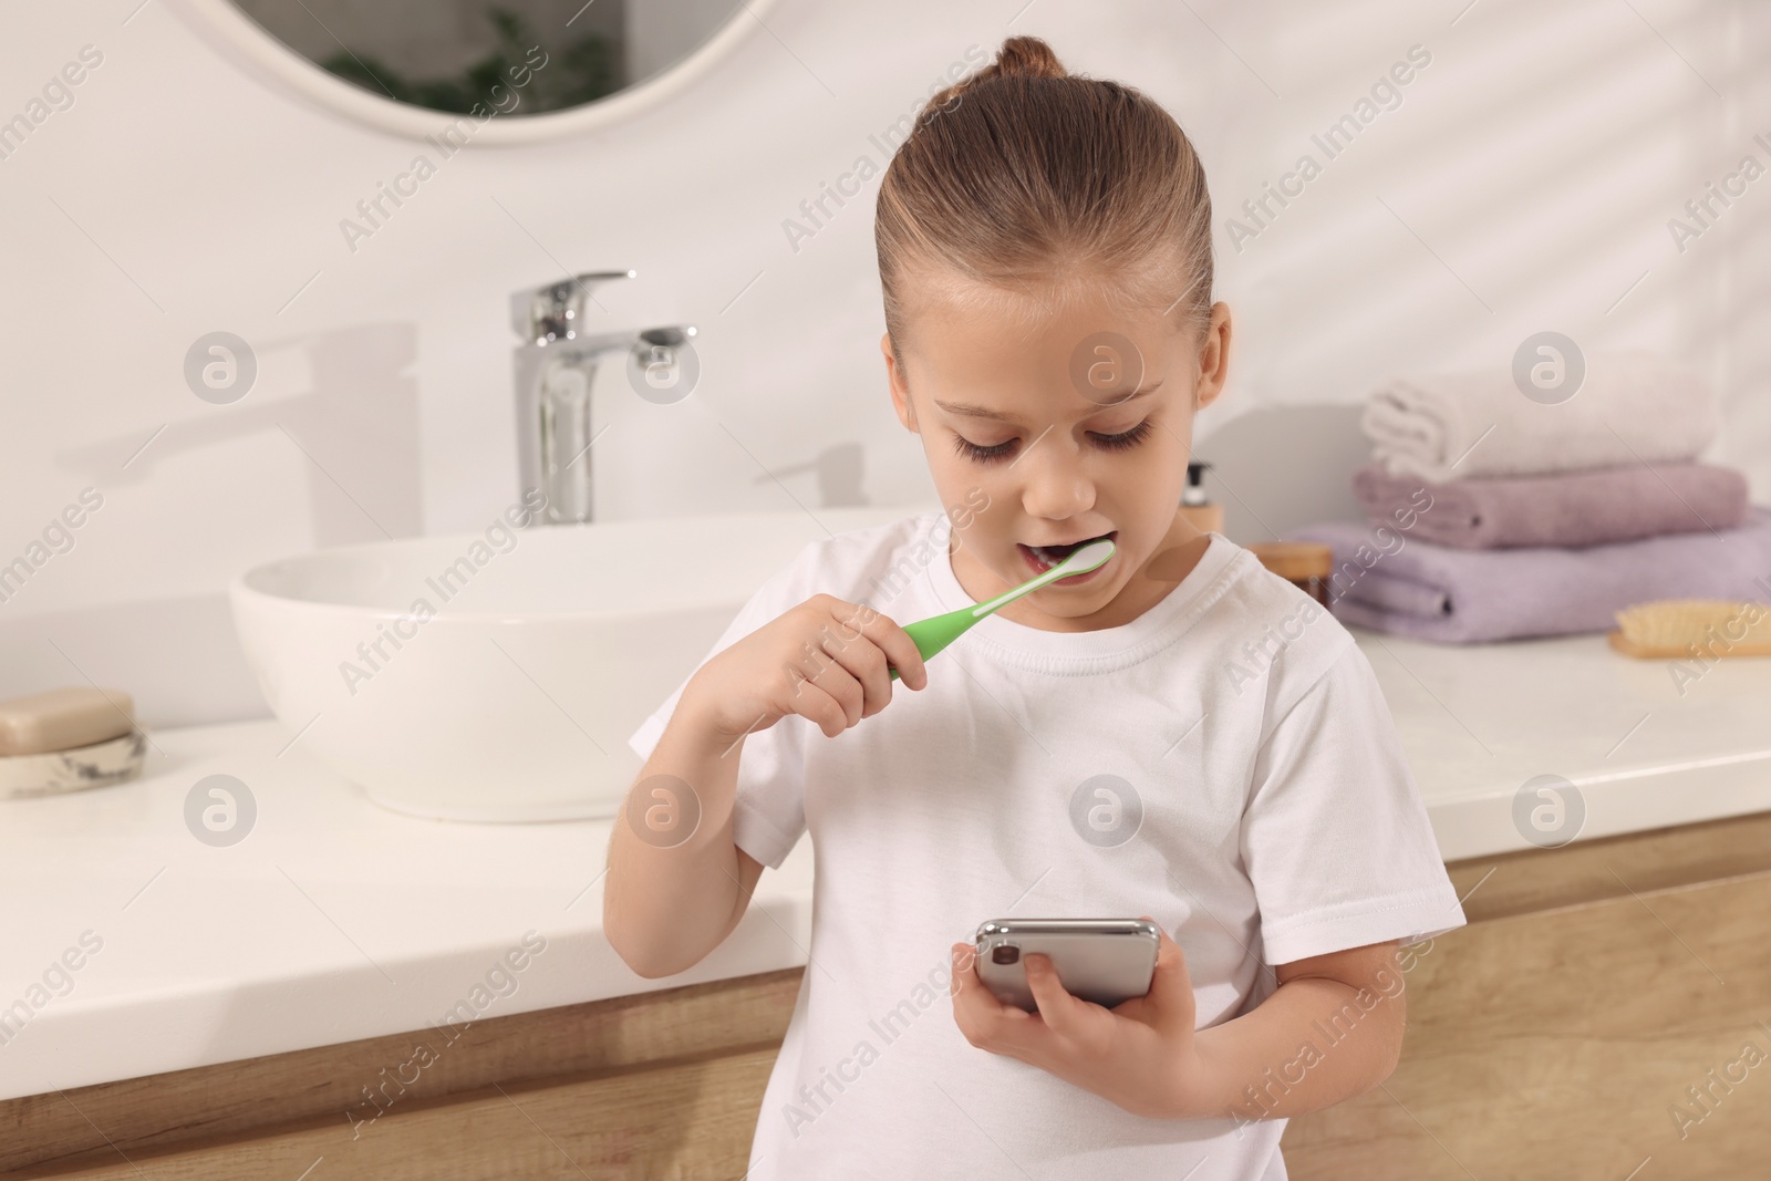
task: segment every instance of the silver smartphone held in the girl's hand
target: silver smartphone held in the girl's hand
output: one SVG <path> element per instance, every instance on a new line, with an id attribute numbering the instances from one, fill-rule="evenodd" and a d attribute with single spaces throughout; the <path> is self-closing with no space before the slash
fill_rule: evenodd
<path id="1" fill-rule="evenodd" d="M 1148 919 L 990 919 L 978 928 L 978 979 L 1002 1004 L 1036 1013 L 1022 956 L 1038 951 L 1064 992 L 1110 1009 L 1149 992 L 1160 942 Z"/>

